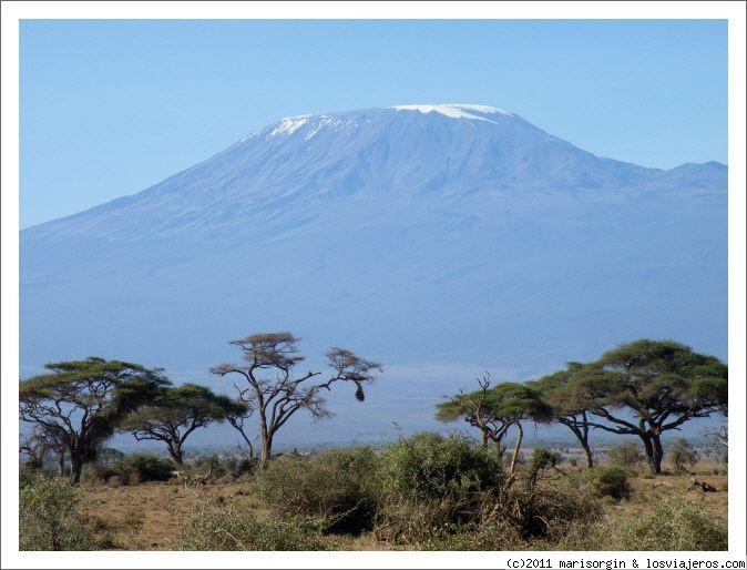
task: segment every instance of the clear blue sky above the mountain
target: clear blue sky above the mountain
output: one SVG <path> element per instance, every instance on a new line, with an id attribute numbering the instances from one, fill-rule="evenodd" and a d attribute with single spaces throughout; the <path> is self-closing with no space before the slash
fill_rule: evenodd
<path id="1" fill-rule="evenodd" d="M 727 162 L 725 20 L 23 20 L 20 225 L 132 194 L 280 116 L 513 111 L 602 156 Z"/>

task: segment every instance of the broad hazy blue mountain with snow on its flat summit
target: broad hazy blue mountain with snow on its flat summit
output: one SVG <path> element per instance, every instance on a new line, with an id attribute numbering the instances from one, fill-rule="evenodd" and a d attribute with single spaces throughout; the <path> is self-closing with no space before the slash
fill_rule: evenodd
<path id="1" fill-rule="evenodd" d="M 722 164 L 597 157 L 482 105 L 282 119 L 22 231 L 22 370 L 98 354 L 217 381 L 227 340 L 289 329 L 385 364 L 355 414 L 407 397 L 428 419 L 482 370 L 638 337 L 725 358 L 726 189 Z"/>

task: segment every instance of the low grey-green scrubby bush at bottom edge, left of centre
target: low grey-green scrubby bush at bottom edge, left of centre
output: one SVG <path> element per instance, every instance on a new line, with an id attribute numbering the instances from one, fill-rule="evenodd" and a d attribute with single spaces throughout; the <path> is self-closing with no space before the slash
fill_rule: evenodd
<path id="1" fill-rule="evenodd" d="M 178 550 L 328 550 L 319 529 L 304 521 L 258 520 L 233 503 L 197 503 Z"/>

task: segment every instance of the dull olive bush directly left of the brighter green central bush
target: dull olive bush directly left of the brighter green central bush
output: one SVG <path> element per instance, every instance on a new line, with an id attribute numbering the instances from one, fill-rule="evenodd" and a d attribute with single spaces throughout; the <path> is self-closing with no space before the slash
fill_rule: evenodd
<path id="1" fill-rule="evenodd" d="M 370 530 L 378 507 L 377 457 L 368 447 L 283 456 L 259 475 L 259 493 L 280 515 L 317 518 L 328 532 Z"/>

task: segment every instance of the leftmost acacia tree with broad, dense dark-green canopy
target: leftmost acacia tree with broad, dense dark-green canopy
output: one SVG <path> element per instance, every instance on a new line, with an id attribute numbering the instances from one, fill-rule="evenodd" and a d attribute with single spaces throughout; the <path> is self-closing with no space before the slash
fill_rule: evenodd
<path id="1" fill-rule="evenodd" d="M 20 383 L 19 415 L 66 449 L 73 485 L 124 418 L 168 384 L 158 370 L 99 357 L 45 368 L 50 374 Z"/>

